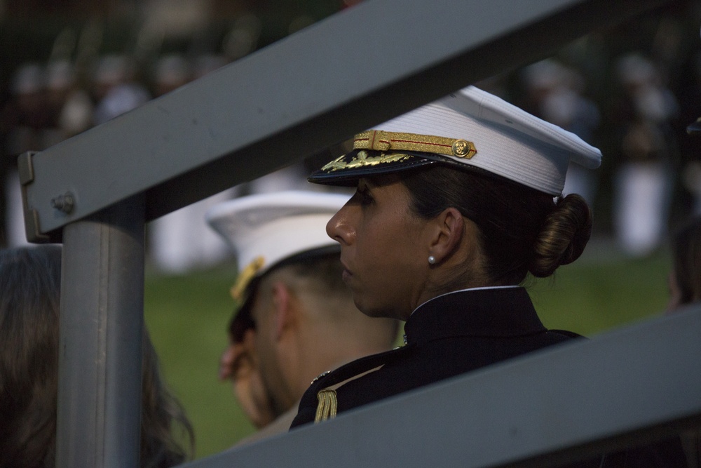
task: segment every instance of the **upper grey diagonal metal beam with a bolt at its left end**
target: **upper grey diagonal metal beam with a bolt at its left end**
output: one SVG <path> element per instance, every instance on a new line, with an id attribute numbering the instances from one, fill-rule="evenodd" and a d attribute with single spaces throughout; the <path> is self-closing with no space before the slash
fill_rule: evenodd
<path id="1" fill-rule="evenodd" d="M 60 241 L 68 223 L 142 193 L 157 218 L 663 3 L 363 2 L 23 155 L 27 238 Z M 73 206 L 52 206 L 66 194 Z"/>

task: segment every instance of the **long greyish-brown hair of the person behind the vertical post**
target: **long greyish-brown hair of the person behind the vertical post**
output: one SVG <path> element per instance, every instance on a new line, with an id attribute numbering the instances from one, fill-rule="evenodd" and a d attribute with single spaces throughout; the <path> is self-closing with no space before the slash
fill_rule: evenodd
<path id="1" fill-rule="evenodd" d="M 0 250 L 0 468 L 53 467 L 58 391 L 61 247 Z M 141 467 L 170 467 L 189 453 L 173 434 L 193 430 L 165 388 L 144 330 Z"/>

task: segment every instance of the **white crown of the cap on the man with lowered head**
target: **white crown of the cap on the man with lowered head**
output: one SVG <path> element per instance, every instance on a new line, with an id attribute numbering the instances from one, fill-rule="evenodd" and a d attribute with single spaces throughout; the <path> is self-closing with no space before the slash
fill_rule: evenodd
<path id="1" fill-rule="evenodd" d="M 338 246 L 326 225 L 349 198 L 311 191 L 257 194 L 212 206 L 205 218 L 233 248 L 239 273 L 256 265 L 250 281 L 294 255 Z"/>

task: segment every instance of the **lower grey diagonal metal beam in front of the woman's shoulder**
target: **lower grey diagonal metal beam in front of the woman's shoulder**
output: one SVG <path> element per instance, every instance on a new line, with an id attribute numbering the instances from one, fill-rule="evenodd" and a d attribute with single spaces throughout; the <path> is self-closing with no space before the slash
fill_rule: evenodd
<path id="1" fill-rule="evenodd" d="M 553 467 L 637 446 L 701 427 L 699 330 L 696 306 L 184 467 Z"/>

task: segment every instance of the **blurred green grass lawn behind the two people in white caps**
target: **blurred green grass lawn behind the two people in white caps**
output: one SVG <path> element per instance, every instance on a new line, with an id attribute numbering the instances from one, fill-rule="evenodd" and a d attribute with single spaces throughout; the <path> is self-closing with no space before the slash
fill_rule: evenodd
<path id="1" fill-rule="evenodd" d="M 147 274 L 146 323 L 170 388 L 196 432 L 196 458 L 212 455 L 253 432 L 231 386 L 217 379 L 231 314 L 235 270 L 222 265 L 186 276 Z M 529 286 L 549 328 L 592 336 L 659 315 L 667 304 L 669 258 L 629 260 L 592 243 L 580 260 Z"/>

